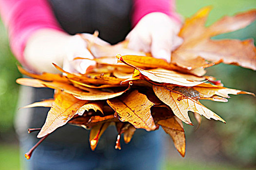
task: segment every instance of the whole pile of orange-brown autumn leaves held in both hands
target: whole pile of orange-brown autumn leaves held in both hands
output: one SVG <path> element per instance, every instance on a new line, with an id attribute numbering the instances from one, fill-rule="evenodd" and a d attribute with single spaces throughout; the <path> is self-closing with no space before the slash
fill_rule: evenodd
<path id="1" fill-rule="evenodd" d="M 18 67 L 21 73 L 34 78 L 20 78 L 18 84 L 55 89 L 54 99 L 25 106 L 51 107 L 37 137 L 44 139 L 70 123 L 91 130 L 90 144 L 94 150 L 108 126 L 115 125 L 118 131 L 115 148 L 121 149 L 122 134 L 128 143 L 137 128 L 154 131 L 162 126 L 184 156 L 183 122 L 193 125 L 188 111 L 194 112 L 199 123 L 201 116 L 225 122 L 199 100 L 227 102 L 229 94 L 252 94 L 223 87 L 213 77 L 203 75 L 204 68 L 220 62 L 256 70 L 253 40 L 210 39 L 249 25 L 256 19 L 256 10 L 223 17 L 205 28 L 209 11 L 209 7 L 203 8 L 186 19 L 179 34 L 183 44 L 172 52 L 171 63 L 130 51 L 127 42 L 101 46 L 87 39 L 97 67 L 86 74 L 66 72 L 54 65 L 64 74 L 38 75 Z M 27 158 L 34 149 L 26 153 Z"/>

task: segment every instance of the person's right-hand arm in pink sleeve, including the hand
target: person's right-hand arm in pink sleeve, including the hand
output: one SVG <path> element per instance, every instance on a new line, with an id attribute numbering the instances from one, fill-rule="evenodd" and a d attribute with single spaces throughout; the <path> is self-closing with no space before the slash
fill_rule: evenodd
<path id="1" fill-rule="evenodd" d="M 181 19 L 175 12 L 174 0 L 134 0 L 128 48 L 151 52 L 153 57 L 171 61 L 171 51 L 183 40 L 177 36 Z"/>

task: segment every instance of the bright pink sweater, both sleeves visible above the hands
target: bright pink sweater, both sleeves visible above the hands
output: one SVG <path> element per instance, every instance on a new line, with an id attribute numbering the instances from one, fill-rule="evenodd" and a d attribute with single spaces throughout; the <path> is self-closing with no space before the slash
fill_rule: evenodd
<path id="1" fill-rule="evenodd" d="M 174 0 L 134 0 L 133 3 L 133 27 L 152 12 L 162 12 L 179 21 Z M 0 0 L 0 14 L 8 29 L 11 49 L 23 65 L 26 42 L 35 31 L 42 28 L 63 31 L 47 0 Z"/>

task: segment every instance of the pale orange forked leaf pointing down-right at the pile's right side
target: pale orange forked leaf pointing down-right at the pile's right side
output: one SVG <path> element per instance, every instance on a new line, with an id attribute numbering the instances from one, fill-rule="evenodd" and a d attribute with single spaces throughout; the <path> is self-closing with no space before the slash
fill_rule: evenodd
<path id="1" fill-rule="evenodd" d="M 193 125 L 188 117 L 188 111 L 198 113 L 207 119 L 215 119 L 225 122 L 217 114 L 206 108 L 200 102 L 184 96 L 182 93 L 172 90 L 165 86 L 153 85 L 153 90 L 156 96 L 165 104 L 167 104 L 173 111 L 173 113 L 181 119 L 183 122 Z M 180 98 L 185 97 L 183 100 Z"/>

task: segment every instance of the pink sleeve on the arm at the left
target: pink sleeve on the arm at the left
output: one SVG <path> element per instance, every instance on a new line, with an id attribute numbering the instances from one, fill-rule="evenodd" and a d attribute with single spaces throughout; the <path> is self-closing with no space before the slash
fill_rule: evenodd
<path id="1" fill-rule="evenodd" d="M 0 0 L 0 14 L 11 49 L 23 66 L 23 51 L 30 35 L 41 28 L 62 31 L 47 0 Z"/>

